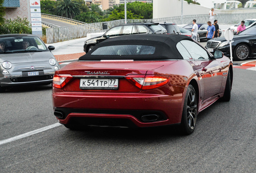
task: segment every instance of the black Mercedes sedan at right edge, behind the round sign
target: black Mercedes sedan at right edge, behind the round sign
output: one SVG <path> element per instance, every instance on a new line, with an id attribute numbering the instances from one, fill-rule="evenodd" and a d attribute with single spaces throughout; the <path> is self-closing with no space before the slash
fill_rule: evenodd
<path id="1" fill-rule="evenodd" d="M 235 60 L 246 60 L 256 56 L 256 25 L 234 35 L 231 41 L 232 55 Z M 230 57 L 229 41 L 224 37 L 208 40 L 206 48 L 210 52 L 221 50 Z"/>

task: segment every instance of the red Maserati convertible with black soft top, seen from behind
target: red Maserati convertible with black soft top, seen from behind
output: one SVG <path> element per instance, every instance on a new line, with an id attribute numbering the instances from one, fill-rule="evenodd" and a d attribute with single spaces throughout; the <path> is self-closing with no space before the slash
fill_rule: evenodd
<path id="1" fill-rule="evenodd" d="M 231 60 L 188 36 L 109 38 L 55 72 L 54 115 L 69 129 L 176 124 L 191 134 L 200 111 L 230 100 L 232 80 Z"/>

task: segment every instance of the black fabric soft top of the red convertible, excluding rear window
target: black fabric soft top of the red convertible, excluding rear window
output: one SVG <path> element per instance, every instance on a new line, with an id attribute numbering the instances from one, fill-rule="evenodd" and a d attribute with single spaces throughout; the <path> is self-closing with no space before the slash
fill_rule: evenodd
<path id="1" fill-rule="evenodd" d="M 176 48 L 176 44 L 181 40 L 191 40 L 188 36 L 175 34 L 140 34 L 126 35 L 115 38 L 109 38 L 97 44 L 93 50 L 81 56 L 79 60 L 167 60 L 167 59 L 183 59 Z M 154 54 L 141 55 L 92 55 L 99 47 L 112 45 L 147 45 L 155 46 Z"/>

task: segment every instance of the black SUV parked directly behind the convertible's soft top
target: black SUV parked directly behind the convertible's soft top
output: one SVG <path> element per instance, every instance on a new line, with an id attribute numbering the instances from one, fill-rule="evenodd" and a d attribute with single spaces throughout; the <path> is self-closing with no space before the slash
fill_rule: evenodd
<path id="1" fill-rule="evenodd" d="M 102 36 L 94 37 L 85 41 L 84 51 L 89 52 L 96 44 L 116 36 L 131 34 L 166 34 L 167 31 L 159 23 L 155 22 L 138 22 L 114 26 L 105 32 Z"/>

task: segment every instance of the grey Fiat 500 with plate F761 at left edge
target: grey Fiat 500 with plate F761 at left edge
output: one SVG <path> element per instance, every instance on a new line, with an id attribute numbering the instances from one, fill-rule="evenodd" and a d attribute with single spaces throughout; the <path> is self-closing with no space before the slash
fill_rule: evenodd
<path id="1" fill-rule="evenodd" d="M 60 68 L 52 50 L 32 34 L 0 35 L 0 92 L 10 86 L 51 84 Z"/>

